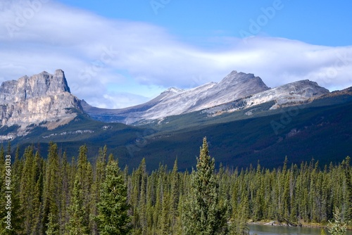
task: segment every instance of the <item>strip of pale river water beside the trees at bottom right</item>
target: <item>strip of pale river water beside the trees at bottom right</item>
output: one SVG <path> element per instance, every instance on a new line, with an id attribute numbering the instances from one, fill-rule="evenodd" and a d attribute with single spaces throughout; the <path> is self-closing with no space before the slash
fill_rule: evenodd
<path id="1" fill-rule="evenodd" d="M 290 234 L 290 235 L 320 235 L 320 229 L 307 227 L 287 227 L 287 226 L 270 226 L 249 224 L 250 234 Z M 327 231 L 325 230 L 327 233 Z M 347 235 L 352 235 L 352 231 L 347 231 Z"/>

